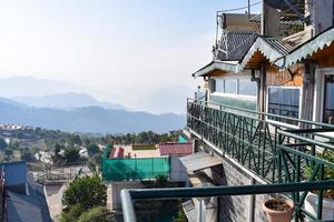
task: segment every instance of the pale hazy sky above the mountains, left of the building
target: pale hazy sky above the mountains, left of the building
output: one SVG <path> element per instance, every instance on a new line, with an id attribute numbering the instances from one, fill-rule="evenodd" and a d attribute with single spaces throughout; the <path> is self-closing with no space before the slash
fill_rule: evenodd
<path id="1" fill-rule="evenodd" d="M 179 113 L 197 85 L 190 73 L 212 59 L 216 11 L 246 3 L 1 0 L 0 75 L 68 81 L 102 100 Z"/>

